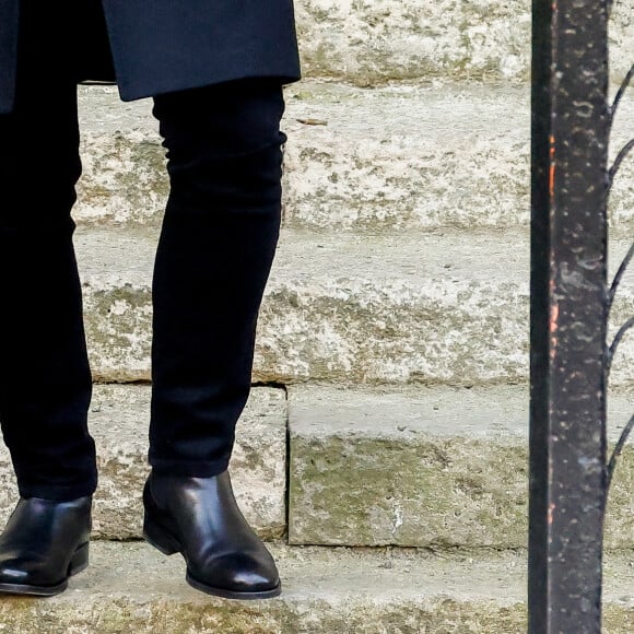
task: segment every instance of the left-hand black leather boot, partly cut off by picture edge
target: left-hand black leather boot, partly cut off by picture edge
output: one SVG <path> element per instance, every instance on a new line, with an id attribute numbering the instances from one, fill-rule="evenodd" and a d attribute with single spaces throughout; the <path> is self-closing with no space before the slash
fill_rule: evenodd
<path id="1" fill-rule="evenodd" d="M 0 536 L 0 592 L 50 597 L 89 565 L 92 497 L 22 497 Z"/>

